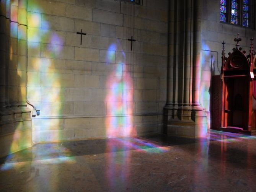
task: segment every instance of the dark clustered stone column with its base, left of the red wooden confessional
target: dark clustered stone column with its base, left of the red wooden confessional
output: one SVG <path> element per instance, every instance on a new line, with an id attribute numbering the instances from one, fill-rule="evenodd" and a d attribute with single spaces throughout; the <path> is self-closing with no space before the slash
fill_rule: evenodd
<path id="1" fill-rule="evenodd" d="M 164 110 L 165 133 L 170 135 L 204 137 L 207 134 L 206 113 L 199 98 L 201 15 L 202 0 L 170 3 L 168 101 Z"/>

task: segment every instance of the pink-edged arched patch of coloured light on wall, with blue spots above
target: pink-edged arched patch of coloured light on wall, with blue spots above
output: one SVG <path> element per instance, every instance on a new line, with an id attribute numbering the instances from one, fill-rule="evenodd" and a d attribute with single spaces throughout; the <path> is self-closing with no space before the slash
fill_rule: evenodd
<path id="1" fill-rule="evenodd" d="M 115 45 L 109 46 L 109 50 L 114 49 Z M 124 52 L 123 56 L 125 57 Z M 107 60 L 112 60 L 112 57 L 114 52 L 109 51 Z M 111 116 L 107 117 L 105 122 L 107 137 L 136 135 L 131 116 L 133 114 L 133 80 L 126 64 L 116 65 L 116 69 L 109 75 L 106 87 L 109 88 L 105 98 L 107 114 Z"/>

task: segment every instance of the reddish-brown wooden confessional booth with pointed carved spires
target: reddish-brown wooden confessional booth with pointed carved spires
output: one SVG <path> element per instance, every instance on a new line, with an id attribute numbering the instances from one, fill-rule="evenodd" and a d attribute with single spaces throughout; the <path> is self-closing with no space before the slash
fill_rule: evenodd
<path id="1" fill-rule="evenodd" d="M 253 39 L 249 55 L 241 51 L 235 38 L 236 48 L 225 57 L 222 48 L 221 74 L 212 81 L 212 129 L 226 132 L 256 134 L 256 75 Z"/>

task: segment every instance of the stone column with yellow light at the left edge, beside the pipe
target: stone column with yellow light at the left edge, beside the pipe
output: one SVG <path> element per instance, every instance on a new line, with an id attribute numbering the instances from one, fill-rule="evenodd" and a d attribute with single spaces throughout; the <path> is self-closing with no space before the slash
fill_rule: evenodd
<path id="1" fill-rule="evenodd" d="M 0 157 L 32 145 L 31 110 L 26 105 L 26 0 L 0 1 Z M 4 29 L 2 28 L 4 26 Z M 21 90 L 21 88 L 23 90 Z M 3 92 L 2 92 L 3 91 Z M 21 93 L 23 97 L 19 97 Z"/>

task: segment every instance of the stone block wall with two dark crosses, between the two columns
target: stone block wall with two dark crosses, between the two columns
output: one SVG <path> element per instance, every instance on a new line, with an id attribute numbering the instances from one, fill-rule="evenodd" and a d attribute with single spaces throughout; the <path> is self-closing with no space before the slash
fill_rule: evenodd
<path id="1" fill-rule="evenodd" d="M 167 34 L 167 0 L 28 0 L 33 142 L 159 132 Z"/>

